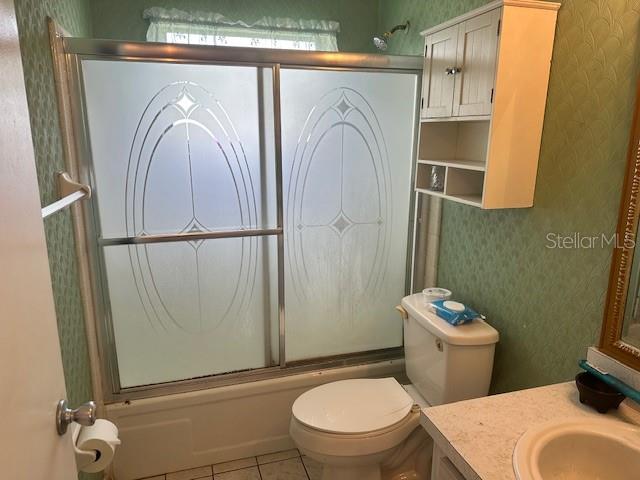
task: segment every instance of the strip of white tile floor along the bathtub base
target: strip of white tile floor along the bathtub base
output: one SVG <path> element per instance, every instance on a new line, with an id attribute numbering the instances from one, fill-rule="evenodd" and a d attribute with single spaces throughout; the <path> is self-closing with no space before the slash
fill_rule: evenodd
<path id="1" fill-rule="evenodd" d="M 320 480 L 322 466 L 296 449 L 216 463 L 144 480 Z"/>

